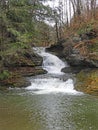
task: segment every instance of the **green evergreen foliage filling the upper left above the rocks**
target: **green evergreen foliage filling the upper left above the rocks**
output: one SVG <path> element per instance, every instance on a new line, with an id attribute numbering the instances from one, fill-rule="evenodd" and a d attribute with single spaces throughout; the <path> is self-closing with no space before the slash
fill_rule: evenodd
<path id="1" fill-rule="evenodd" d="M 49 25 L 44 21 L 51 17 L 51 8 L 44 6 L 42 1 L 1 0 L 0 12 L 1 50 L 5 50 L 7 44 L 11 43 L 20 43 L 21 47 L 24 44 L 29 46 L 29 43 L 47 42 L 44 34 L 47 33 Z M 43 26 L 45 30 L 42 30 Z"/>

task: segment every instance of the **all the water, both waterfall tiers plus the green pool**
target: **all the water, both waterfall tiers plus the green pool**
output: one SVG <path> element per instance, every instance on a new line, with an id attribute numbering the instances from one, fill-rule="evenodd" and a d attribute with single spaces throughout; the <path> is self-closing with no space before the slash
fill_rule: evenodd
<path id="1" fill-rule="evenodd" d="M 98 98 L 74 90 L 72 76 L 61 72 L 67 63 L 35 51 L 48 73 L 25 89 L 0 91 L 0 130 L 98 130 Z"/>

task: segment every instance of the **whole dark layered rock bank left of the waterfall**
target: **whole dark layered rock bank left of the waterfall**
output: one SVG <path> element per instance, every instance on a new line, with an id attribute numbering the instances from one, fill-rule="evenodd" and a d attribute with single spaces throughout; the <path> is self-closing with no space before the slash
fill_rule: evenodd
<path id="1" fill-rule="evenodd" d="M 30 82 L 26 77 L 46 73 L 42 69 L 42 57 L 32 49 L 5 54 L 1 60 L 0 87 L 26 87 Z"/>

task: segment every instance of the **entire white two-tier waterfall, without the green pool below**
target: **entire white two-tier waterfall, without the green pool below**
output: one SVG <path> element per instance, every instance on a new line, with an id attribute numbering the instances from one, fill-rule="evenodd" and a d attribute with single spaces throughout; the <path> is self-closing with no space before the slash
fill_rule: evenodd
<path id="1" fill-rule="evenodd" d="M 79 94 L 74 90 L 72 79 L 64 81 L 64 73 L 61 69 L 67 67 L 67 63 L 61 61 L 57 56 L 45 52 L 45 48 L 34 48 L 35 52 L 43 57 L 43 69 L 47 70 L 46 75 L 35 76 L 31 79 L 31 86 L 27 90 L 33 94 L 46 93 L 68 93 Z M 62 76 L 63 75 L 63 76 Z"/>

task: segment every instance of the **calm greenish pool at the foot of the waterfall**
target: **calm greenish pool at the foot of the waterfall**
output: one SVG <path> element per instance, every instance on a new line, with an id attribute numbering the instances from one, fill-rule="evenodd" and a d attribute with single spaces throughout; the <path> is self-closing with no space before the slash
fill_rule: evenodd
<path id="1" fill-rule="evenodd" d="M 98 130 L 98 99 L 83 94 L 1 92 L 0 130 Z"/>

